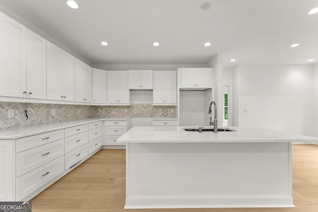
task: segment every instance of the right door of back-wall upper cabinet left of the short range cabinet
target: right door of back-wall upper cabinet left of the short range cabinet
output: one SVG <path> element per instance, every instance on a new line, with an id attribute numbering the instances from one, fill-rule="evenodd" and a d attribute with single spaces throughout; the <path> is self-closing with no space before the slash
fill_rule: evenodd
<path id="1" fill-rule="evenodd" d="M 129 104 L 128 71 L 118 71 L 118 103 Z"/>

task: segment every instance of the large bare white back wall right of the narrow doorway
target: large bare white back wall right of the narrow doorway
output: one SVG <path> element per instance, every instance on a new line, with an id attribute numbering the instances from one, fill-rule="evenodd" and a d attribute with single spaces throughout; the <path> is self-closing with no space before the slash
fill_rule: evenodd
<path id="1" fill-rule="evenodd" d="M 313 136 L 313 66 L 238 66 L 234 69 L 239 126 Z"/>

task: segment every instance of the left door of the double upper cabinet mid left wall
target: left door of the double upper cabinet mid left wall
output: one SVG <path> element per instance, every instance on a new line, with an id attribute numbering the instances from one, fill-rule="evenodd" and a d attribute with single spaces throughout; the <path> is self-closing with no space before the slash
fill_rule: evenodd
<path id="1" fill-rule="evenodd" d="M 62 92 L 62 50 L 47 41 L 46 49 L 46 98 L 63 100 Z"/>

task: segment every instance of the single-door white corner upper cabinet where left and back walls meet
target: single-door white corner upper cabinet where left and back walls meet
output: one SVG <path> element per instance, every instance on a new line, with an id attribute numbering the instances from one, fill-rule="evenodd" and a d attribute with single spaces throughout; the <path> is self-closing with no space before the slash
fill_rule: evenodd
<path id="1" fill-rule="evenodd" d="M 93 69 L 93 103 L 106 104 L 106 74 L 100 69 Z"/>

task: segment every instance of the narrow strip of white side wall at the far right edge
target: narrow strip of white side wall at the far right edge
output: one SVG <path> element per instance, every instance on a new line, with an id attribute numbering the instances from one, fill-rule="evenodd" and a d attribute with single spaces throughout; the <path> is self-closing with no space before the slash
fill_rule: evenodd
<path id="1" fill-rule="evenodd" d="M 314 129 L 313 135 L 318 137 L 318 63 L 314 65 L 314 77 L 313 77 L 313 84 L 314 84 L 314 113 L 313 113 L 313 122 L 314 122 Z"/>

